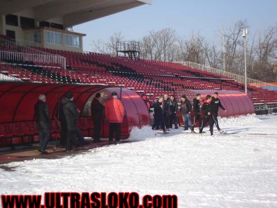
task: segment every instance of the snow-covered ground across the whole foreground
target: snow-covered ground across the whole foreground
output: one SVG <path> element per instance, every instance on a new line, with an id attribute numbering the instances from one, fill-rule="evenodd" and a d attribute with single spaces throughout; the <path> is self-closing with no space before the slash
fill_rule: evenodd
<path id="1" fill-rule="evenodd" d="M 14 171 L 0 169 L 0 194 L 136 191 L 176 194 L 179 207 L 277 207 L 277 116 L 220 125 L 228 133 L 215 137 L 134 129 L 138 142 L 6 164 Z"/>

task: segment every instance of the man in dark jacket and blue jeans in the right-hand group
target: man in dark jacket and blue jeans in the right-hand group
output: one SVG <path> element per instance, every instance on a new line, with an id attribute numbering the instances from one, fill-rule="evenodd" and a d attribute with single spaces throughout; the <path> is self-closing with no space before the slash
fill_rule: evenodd
<path id="1" fill-rule="evenodd" d="M 191 103 L 188 100 L 188 98 L 186 98 L 186 95 L 181 96 L 180 111 L 185 125 L 184 130 L 188 130 L 188 128 L 190 128 L 191 132 L 193 133 L 194 131 L 192 129 L 191 119 L 190 119 Z"/>

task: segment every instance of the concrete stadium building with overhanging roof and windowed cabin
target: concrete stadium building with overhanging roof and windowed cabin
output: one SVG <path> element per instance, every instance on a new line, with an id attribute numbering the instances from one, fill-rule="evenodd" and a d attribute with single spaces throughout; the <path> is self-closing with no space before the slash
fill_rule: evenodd
<path id="1" fill-rule="evenodd" d="M 0 35 L 48 49 L 82 52 L 72 26 L 152 3 L 151 0 L 0 0 Z"/>

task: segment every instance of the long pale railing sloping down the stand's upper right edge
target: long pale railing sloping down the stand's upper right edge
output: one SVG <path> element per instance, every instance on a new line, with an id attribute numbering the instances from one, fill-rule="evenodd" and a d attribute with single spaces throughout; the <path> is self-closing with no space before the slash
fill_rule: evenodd
<path id="1" fill-rule="evenodd" d="M 210 72 L 210 73 L 217 73 L 220 76 L 227 76 L 229 78 L 233 78 L 238 83 L 243 83 L 244 84 L 244 82 L 245 82 L 244 81 L 244 76 L 240 76 L 238 74 L 231 73 L 231 72 L 228 72 L 228 71 L 222 71 L 220 69 L 215 69 L 213 67 L 207 67 L 205 65 L 197 64 L 197 63 L 194 63 L 194 62 L 176 62 L 176 63 L 182 64 L 184 66 L 191 67 L 191 68 L 194 68 L 194 69 L 207 71 L 207 72 Z M 276 90 L 276 85 L 272 85 L 270 83 L 265 83 L 265 82 L 262 82 L 260 80 L 254 80 L 254 79 L 251 79 L 251 78 L 247 78 L 247 85 L 260 87 L 260 88 L 264 88 L 264 89 L 269 89 L 269 90 L 273 90 L 273 91 Z"/>

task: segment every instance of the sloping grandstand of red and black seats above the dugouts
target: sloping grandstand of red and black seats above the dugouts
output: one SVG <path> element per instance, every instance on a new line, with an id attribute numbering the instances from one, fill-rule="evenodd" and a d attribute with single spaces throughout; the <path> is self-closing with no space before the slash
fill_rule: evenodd
<path id="1" fill-rule="evenodd" d="M 23 47 L 0 44 L 0 51 L 26 53 Z M 18 50 L 21 51 L 18 51 Z M 32 48 L 33 49 L 33 48 Z M 159 96 L 175 94 L 182 89 L 212 89 L 244 91 L 244 84 L 226 76 L 220 76 L 181 64 L 154 60 L 128 60 L 99 53 L 75 53 L 53 49 L 37 49 L 45 54 L 66 58 L 66 69 L 58 64 L 9 60 L 1 58 L 0 73 L 25 82 L 39 83 L 102 83 L 123 86 L 137 92 Z M 40 53 L 39 52 L 39 53 Z M 253 103 L 276 103 L 277 92 L 260 87 L 248 87 Z"/>

